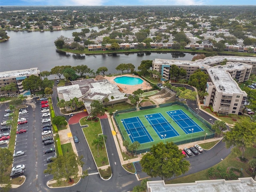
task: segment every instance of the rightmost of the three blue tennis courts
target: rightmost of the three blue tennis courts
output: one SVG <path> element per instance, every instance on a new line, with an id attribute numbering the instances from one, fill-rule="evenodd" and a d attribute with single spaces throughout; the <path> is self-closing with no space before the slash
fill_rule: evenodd
<path id="1" fill-rule="evenodd" d="M 167 111 L 166 112 L 178 126 L 186 133 L 196 133 L 204 131 L 192 118 L 190 118 L 182 110 Z"/>

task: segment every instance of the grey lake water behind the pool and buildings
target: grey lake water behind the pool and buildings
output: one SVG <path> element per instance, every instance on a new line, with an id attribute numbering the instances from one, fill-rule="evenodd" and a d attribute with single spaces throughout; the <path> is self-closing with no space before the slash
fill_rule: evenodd
<path id="1" fill-rule="evenodd" d="M 96 29 L 96 28 L 94 28 Z M 116 66 L 121 63 L 132 63 L 135 70 L 142 60 L 178 59 L 192 60 L 193 55 L 189 53 L 127 53 L 127 54 L 102 54 L 102 55 L 77 55 L 70 53 L 58 53 L 54 41 L 61 35 L 72 37 L 76 30 L 61 30 L 54 32 L 13 32 L 9 31 L 10 40 L 0 43 L 0 72 L 20 70 L 37 67 L 40 71 L 50 71 L 54 66 L 62 65 L 87 65 L 91 70 L 105 66 L 108 73 L 120 73 Z M 55 76 L 54 76 L 55 77 Z"/>

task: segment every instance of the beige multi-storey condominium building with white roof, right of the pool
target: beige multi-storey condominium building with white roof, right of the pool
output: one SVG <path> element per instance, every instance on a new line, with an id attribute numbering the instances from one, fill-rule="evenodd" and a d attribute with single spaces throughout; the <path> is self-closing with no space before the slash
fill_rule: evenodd
<path id="1" fill-rule="evenodd" d="M 226 61 L 226 64 L 220 65 L 223 61 Z M 170 80 L 170 67 L 173 64 L 186 70 L 187 80 L 198 69 L 209 74 L 206 84 L 206 92 L 209 95 L 204 99 L 204 106 L 212 106 L 213 111 L 219 114 L 242 112 L 247 94 L 239 88 L 237 82 L 241 83 L 249 79 L 252 70 L 256 69 L 256 58 L 214 56 L 194 62 L 155 59 L 152 68 L 161 73 L 162 80 Z M 152 76 L 158 77 L 154 74 Z"/>

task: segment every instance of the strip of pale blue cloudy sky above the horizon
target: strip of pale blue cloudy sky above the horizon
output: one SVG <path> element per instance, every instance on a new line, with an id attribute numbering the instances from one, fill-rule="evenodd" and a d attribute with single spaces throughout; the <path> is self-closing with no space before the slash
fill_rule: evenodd
<path id="1" fill-rule="evenodd" d="M 0 6 L 256 5 L 256 0 L 0 0 Z"/>

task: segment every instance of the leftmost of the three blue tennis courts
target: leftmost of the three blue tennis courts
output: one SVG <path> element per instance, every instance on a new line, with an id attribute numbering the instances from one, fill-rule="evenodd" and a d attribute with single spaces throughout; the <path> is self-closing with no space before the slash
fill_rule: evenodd
<path id="1" fill-rule="evenodd" d="M 138 141 L 142 144 L 154 141 L 139 117 L 121 119 L 121 122 L 132 143 Z"/>

